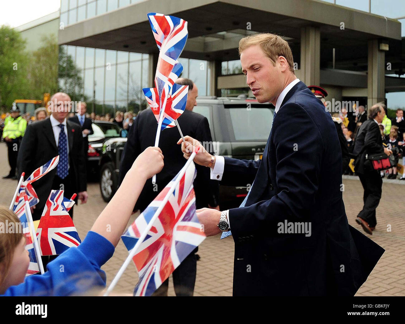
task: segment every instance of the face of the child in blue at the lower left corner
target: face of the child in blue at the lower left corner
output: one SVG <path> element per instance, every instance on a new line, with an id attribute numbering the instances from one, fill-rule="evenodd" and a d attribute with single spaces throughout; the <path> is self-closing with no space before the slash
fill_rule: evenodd
<path id="1" fill-rule="evenodd" d="M 8 276 L 3 282 L 3 287 L 5 289 L 16 286 L 24 282 L 25 275 L 30 265 L 30 257 L 28 255 L 28 250 L 25 248 L 26 238 L 21 238 L 21 242 L 14 250 L 13 259 L 11 260 L 10 271 Z"/>

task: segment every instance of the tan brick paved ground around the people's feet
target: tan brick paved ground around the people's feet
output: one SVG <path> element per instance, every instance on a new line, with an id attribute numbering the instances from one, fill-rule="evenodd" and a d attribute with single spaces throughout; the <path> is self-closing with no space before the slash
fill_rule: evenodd
<path id="1" fill-rule="evenodd" d="M 7 151 L 0 143 L 0 176 L 9 171 Z M 401 181 L 386 180 L 382 200 L 377 208 L 377 227 L 372 239 L 386 249 L 367 282 L 358 290 L 358 296 L 404 296 L 405 295 L 405 186 Z M 362 207 L 362 187 L 355 177 L 343 179 L 346 213 L 349 223 L 360 229 L 354 221 Z M 405 181 L 404 181 L 405 184 Z M 0 204 L 9 206 L 17 181 L 0 179 Z M 75 206 L 75 225 L 79 236 L 84 238 L 106 203 L 102 200 L 98 183 L 88 185 L 89 202 Z M 133 215 L 130 223 L 135 217 Z M 128 225 L 130 224 L 128 223 Z M 392 231 L 387 231 L 390 224 Z M 201 259 L 197 263 L 195 296 L 231 296 L 234 244 L 232 238 L 220 241 L 218 237 L 207 238 L 199 247 Z M 107 272 L 107 285 L 111 282 L 128 252 L 120 242 L 114 256 L 102 267 Z M 132 293 L 138 276 L 131 264 L 117 284 L 117 292 Z M 173 282 L 169 284 L 173 296 Z"/>

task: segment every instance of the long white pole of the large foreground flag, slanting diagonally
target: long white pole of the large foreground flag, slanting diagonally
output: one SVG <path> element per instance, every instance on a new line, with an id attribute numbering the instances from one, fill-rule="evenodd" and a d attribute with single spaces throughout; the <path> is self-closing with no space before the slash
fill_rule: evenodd
<path id="1" fill-rule="evenodd" d="M 198 149 L 199 150 L 199 149 Z M 148 225 L 146 226 L 146 228 L 144 229 L 141 237 L 139 238 L 139 240 L 136 242 L 135 246 L 132 248 L 132 250 L 129 251 L 128 257 L 126 258 L 124 264 L 122 265 L 122 267 L 119 269 L 117 275 L 115 276 L 115 278 L 113 279 L 113 281 L 111 282 L 110 286 L 108 287 L 107 291 L 104 294 L 105 296 L 108 296 L 111 291 L 114 289 L 115 285 L 117 284 L 119 278 L 121 278 L 121 276 L 124 274 L 125 269 L 128 267 L 128 265 L 130 264 L 132 258 L 134 257 L 134 255 L 136 254 L 139 246 L 142 244 L 143 240 L 145 240 L 145 237 L 147 236 L 149 230 L 151 229 L 151 227 L 153 226 L 153 223 L 155 222 L 155 220 L 158 218 L 160 212 L 163 210 L 164 206 L 166 205 L 167 201 L 169 200 L 169 197 L 171 196 L 171 194 L 173 194 L 173 191 L 175 190 L 175 187 L 177 185 L 177 183 L 180 181 L 181 177 L 183 177 L 183 174 L 185 173 L 185 171 L 187 170 L 188 166 L 190 166 L 190 164 L 192 163 L 192 161 L 194 160 L 194 157 L 197 154 L 197 151 L 194 151 L 190 158 L 187 160 L 187 162 L 185 163 L 185 165 L 183 166 L 183 168 L 181 169 L 181 172 L 179 174 L 179 176 L 177 177 L 176 183 L 174 183 L 172 185 L 172 187 L 170 188 L 170 190 L 168 191 L 168 193 L 166 194 L 166 196 L 164 197 L 164 199 L 162 200 L 158 210 L 156 210 L 155 214 L 153 215 L 153 217 L 151 218 L 151 220 L 149 221 Z"/>

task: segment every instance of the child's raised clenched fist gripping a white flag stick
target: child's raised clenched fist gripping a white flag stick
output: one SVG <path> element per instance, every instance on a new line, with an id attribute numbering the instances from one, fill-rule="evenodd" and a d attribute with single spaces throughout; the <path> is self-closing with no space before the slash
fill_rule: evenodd
<path id="1" fill-rule="evenodd" d="M 143 151 L 132 164 L 131 170 L 136 170 L 145 179 L 153 177 L 158 174 L 163 168 L 163 154 L 159 147 L 149 146 Z"/>

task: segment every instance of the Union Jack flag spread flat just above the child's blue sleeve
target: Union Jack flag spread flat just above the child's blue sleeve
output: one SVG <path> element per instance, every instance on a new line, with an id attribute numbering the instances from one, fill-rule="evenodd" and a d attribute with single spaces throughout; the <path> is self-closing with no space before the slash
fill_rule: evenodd
<path id="1" fill-rule="evenodd" d="M 39 221 L 36 235 L 41 255 L 58 255 L 81 240 L 66 205 L 73 205 L 63 197 L 63 190 L 52 190 Z"/>

